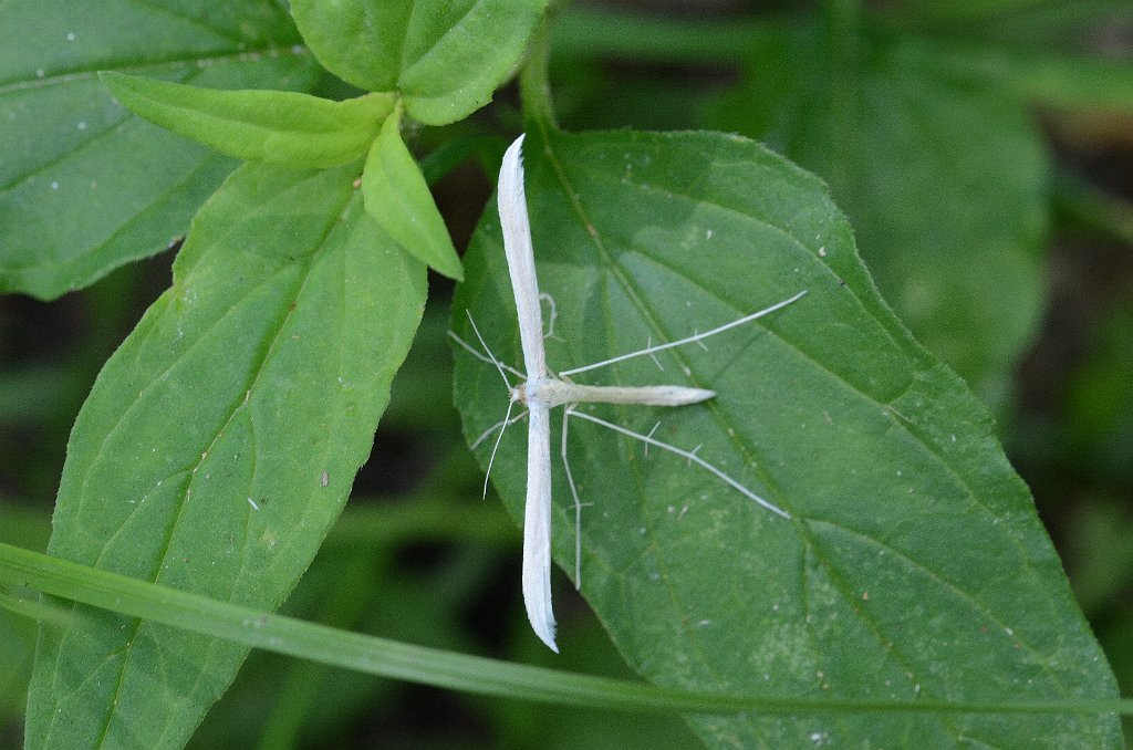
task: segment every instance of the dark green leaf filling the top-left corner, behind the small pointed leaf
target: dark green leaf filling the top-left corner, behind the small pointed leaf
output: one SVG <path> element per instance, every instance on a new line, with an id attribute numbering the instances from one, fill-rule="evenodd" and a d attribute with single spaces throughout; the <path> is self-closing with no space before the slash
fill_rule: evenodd
<path id="1" fill-rule="evenodd" d="M 0 3 L 0 291 L 58 297 L 153 255 L 236 165 L 134 118 L 97 70 L 214 88 L 309 88 L 270 0 Z"/>

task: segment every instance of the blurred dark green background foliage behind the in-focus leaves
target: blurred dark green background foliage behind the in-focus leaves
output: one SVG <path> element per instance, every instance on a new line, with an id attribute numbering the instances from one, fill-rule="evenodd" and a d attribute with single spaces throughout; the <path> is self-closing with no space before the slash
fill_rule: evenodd
<path id="1" fill-rule="evenodd" d="M 905 0 L 864 8 L 830 1 L 803 10 L 775 3 L 790 12 L 768 16 L 756 7 L 765 5 L 722 1 L 708 12 L 691 1 L 561 9 L 552 68 L 560 119 L 573 129 L 725 126 L 770 138 L 820 173 L 861 221 L 867 263 L 884 253 L 874 270 L 902 313 L 913 310 L 909 300 L 923 299 L 925 283 L 938 281 L 918 278 L 937 273 L 915 257 L 925 250 L 920 240 L 931 237 L 940 254 L 962 247 L 963 263 L 945 267 L 940 289 L 973 276 L 964 292 L 934 297 L 923 330 L 915 314 L 906 322 L 930 348 L 939 342 L 936 353 L 998 410 L 1008 454 L 1034 492 L 1123 692 L 1133 692 L 1133 68 L 1121 67 L 1133 57 L 1133 9 L 1116 0 Z M 851 57 L 838 57 L 845 49 L 808 51 L 816 24 L 844 27 Z M 910 54 L 919 62 L 901 57 L 886 67 L 892 56 Z M 866 65 L 838 62 L 845 59 Z M 1104 91 L 1081 85 L 1083 66 L 1098 62 L 1124 70 L 1124 87 L 1117 74 L 1090 78 L 1109 80 Z M 868 75 L 855 84 L 862 69 Z M 878 83 L 879 70 L 900 78 L 900 100 L 888 95 L 892 78 Z M 870 127 L 840 119 L 836 108 L 808 111 L 800 92 L 808 82 L 830 86 L 835 75 L 845 87 L 815 101 L 872 91 L 874 99 L 849 104 L 869 116 Z M 910 110 L 925 119 L 902 117 Z M 981 129 L 980 113 L 988 118 L 982 128 L 994 133 Z M 946 144 L 925 138 L 926 122 L 939 116 L 952 120 Z M 459 144 L 425 159 L 458 248 L 494 179 L 485 169 L 500 152 L 494 138 L 517 126 L 504 92 L 472 119 L 425 129 L 408 144 L 417 153 Z M 861 138 L 877 150 L 870 163 L 861 161 Z M 879 138 L 903 148 L 881 150 Z M 991 168 L 1007 154 L 1014 181 L 998 184 Z M 957 164 L 965 167 L 957 172 Z M 951 180 L 951 223 L 937 221 L 939 204 L 927 199 L 938 184 L 934 170 Z M 880 205 L 879 195 L 895 197 Z M 1008 240 L 1025 283 L 980 265 L 993 252 L 980 232 L 995 229 L 999 212 L 1020 222 Z M 168 255 L 123 266 L 54 302 L 0 299 L 0 540 L 45 546 L 69 427 L 102 363 L 168 285 Z M 286 611 L 550 663 L 533 639 L 513 637 L 526 630 L 513 585 L 519 535 L 499 502 L 479 500 L 483 477 L 448 398 L 449 285 L 440 278 L 431 283 L 433 302 L 377 438 L 381 453 L 397 460 L 363 470 L 348 511 Z M 973 318 L 985 302 L 1002 305 L 1003 315 Z M 1003 316 L 1017 318 L 1010 340 L 997 338 Z M 949 319 L 968 323 L 949 327 Z M 965 339 L 972 339 L 966 351 Z M 982 353 L 973 359 L 972 351 Z M 458 505 L 467 515 L 451 511 Z M 560 595 L 569 624 L 566 656 L 555 666 L 627 674 L 585 604 Z M 34 627 L 8 611 L 17 608 L 19 591 L 0 597 L 0 747 L 17 747 Z M 194 747 L 257 743 L 679 748 L 696 740 L 678 719 L 492 701 L 254 654 Z"/>

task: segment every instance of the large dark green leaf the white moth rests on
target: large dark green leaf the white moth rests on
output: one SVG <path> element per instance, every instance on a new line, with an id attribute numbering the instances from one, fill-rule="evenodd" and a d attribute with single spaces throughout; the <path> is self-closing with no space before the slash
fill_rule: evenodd
<path id="1" fill-rule="evenodd" d="M 787 510 L 784 520 L 684 460 L 572 420 L 582 594 L 627 660 L 666 687 L 781 698 L 994 702 L 1116 696 L 1026 487 L 982 406 L 893 316 L 821 182 L 736 136 L 632 131 L 525 145 L 548 366 L 674 341 L 800 290 L 749 326 L 576 375 L 718 395 L 680 409 L 590 412 L 698 455 Z M 495 206 L 466 255 L 453 329 L 520 363 Z M 546 308 L 545 308 L 546 309 Z M 455 349 L 465 433 L 508 393 Z M 553 419 L 557 423 L 559 416 Z M 557 424 L 553 425 L 553 429 Z M 523 423 L 492 478 L 522 518 Z M 557 437 L 554 438 L 557 441 Z M 492 440 L 477 450 L 482 466 Z M 557 444 L 557 443 L 556 443 Z M 555 451 L 557 453 L 557 450 Z M 557 455 L 553 547 L 574 569 L 574 506 Z M 519 587 L 519 561 L 514 566 Z M 566 617 L 560 623 L 569 629 Z M 531 638 L 535 638 L 533 634 Z M 1116 747 L 1111 717 L 693 718 L 713 747 Z"/>

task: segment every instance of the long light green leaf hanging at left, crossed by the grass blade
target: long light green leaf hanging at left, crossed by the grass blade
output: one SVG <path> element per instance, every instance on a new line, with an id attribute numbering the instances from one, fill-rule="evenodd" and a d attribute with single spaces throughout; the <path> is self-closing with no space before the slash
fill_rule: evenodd
<path id="1" fill-rule="evenodd" d="M 237 170 L 75 424 L 49 552 L 256 607 L 291 590 L 369 453 L 425 267 L 358 165 Z M 79 608 L 44 630 L 29 748 L 180 747 L 246 649 Z"/>

